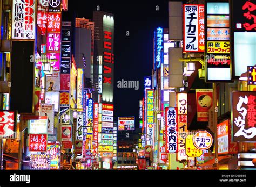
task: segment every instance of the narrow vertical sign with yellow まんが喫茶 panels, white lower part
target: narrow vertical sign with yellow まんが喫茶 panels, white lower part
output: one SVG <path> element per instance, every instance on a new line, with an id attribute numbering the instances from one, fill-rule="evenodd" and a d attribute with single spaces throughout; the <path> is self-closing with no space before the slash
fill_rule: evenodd
<path id="1" fill-rule="evenodd" d="M 146 134 L 147 145 L 154 150 L 154 90 L 146 90 Z"/>

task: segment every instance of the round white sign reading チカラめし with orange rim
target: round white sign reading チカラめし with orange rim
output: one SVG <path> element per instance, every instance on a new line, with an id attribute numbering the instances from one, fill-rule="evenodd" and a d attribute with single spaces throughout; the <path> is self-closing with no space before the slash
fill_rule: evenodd
<path id="1" fill-rule="evenodd" d="M 207 131 L 198 131 L 193 137 L 196 148 L 206 150 L 212 146 L 212 135 Z"/>

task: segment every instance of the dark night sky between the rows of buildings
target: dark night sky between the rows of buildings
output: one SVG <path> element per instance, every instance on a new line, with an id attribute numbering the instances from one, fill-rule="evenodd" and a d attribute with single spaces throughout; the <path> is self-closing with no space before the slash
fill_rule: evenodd
<path id="1" fill-rule="evenodd" d="M 143 98 L 143 77 L 151 75 L 153 33 L 168 27 L 168 1 L 74 1 L 69 13 L 92 19 L 97 5 L 100 11 L 114 14 L 114 116 L 135 116 L 139 125 L 139 100 Z M 156 11 L 156 6 L 159 11 Z M 66 21 L 66 20 L 64 20 Z M 126 31 L 130 36 L 126 36 Z M 139 90 L 117 88 L 117 81 L 139 81 Z"/>

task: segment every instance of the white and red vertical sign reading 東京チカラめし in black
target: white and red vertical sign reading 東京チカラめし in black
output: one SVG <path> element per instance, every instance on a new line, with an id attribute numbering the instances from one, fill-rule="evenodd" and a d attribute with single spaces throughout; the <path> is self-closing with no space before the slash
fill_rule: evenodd
<path id="1" fill-rule="evenodd" d="M 204 52 L 204 5 L 183 5 L 183 52 Z"/>

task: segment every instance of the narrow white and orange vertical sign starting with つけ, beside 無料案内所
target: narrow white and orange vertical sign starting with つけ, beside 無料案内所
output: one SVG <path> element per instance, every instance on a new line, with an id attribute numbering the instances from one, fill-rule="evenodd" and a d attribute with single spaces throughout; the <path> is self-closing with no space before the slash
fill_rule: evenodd
<path id="1" fill-rule="evenodd" d="M 187 160 L 185 141 L 187 135 L 187 93 L 177 94 L 177 107 L 178 107 L 178 154 L 177 160 Z"/>

